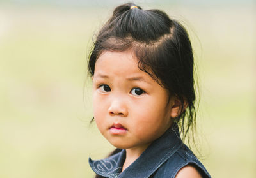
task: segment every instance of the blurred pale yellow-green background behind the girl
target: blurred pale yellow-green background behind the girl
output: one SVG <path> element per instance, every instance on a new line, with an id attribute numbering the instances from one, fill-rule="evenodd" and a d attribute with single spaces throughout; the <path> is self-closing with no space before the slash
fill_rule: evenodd
<path id="1" fill-rule="evenodd" d="M 0 177 L 93 177 L 113 147 L 92 118 L 93 34 L 126 1 L 0 1 Z M 253 1 L 134 1 L 184 24 L 200 79 L 198 143 L 212 177 L 256 177 Z"/>

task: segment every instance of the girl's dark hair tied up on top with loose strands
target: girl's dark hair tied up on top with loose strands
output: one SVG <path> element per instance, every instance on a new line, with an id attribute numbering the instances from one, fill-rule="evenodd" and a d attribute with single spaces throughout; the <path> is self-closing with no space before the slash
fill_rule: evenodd
<path id="1" fill-rule="evenodd" d="M 148 73 L 170 96 L 180 100 L 181 114 L 175 118 L 183 138 L 195 125 L 193 50 L 186 29 L 161 10 L 118 6 L 99 31 L 89 57 L 88 72 L 93 76 L 95 63 L 104 51 L 132 50 L 138 68 Z"/>

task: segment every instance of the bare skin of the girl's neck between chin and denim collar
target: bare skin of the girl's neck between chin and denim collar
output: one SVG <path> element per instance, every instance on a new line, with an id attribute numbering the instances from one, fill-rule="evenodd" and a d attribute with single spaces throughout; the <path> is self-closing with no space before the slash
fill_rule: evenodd
<path id="1" fill-rule="evenodd" d="M 135 148 L 131 148 L 131 149 L 125 149 L 126 158 L 124 161 L 122 172 L 125 170 L 125 168 L 129 167 L 129 165 L 131 165 L 136 159 L 138 159 L 140 157 L 140 155 L 142 154 L 142 152 L 145 151 L 145 149 L 147 149 L 147 147 L 150 144 L 151 143 L 149 143 L 147 145 L 143 145 L 143 147 L 135 147 Z"/>

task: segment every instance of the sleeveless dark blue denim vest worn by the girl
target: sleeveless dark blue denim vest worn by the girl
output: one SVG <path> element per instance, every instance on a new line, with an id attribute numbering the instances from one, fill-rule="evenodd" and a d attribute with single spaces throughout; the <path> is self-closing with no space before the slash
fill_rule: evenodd
<path id="1" fill-rule="evenodd" d="M 108 178 L 175 178 L 177 172 L 186 165 L 192 165 L 204 178 L 211 177 L 204 165 L 193 152 L 180 140 L 177 124 L 173 124 L 122 172 L 125 161 L 125 149 L 106 159 L 93 161 L 89 158 L 92 170 Z"/>

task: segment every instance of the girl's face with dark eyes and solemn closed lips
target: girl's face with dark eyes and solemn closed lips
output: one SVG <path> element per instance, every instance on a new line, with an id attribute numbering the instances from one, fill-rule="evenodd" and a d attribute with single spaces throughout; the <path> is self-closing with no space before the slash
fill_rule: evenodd
<path id="1" fill-rule="evenodd" d="M 174 100 L 128 52 L 103 52 L 93 75 L 94 118 L 115 147 L 145 149 L 170 128 Z"/>

